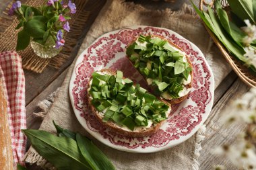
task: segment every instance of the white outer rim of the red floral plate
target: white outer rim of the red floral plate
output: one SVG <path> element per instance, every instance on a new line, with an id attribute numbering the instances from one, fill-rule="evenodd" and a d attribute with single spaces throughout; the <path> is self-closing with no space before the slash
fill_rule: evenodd
<path id="1" fill-rule="evenodd" d="M 104 36 L 107 36 L 108 34 L 111 34 L 113 32 L 119 32 L 121 30 L 125 30 L 125 29 L 131 29 L 131 30 L 134 30 L 136 28 L 147 28 L 147 27 L 150 27 L 150 28 L 158 28 L 158 29 L 162 29 L 162 30 L 167 30 L 168 32 L 171 32 L 173 33 L 175 36 L 177 36 L 177 38 L 179 39 L 183 39 L 183 40 L 186 40 L 189 44 L 191 44 L 191 47 L 195 50 L 197 50 L 199 52 L 199 55 L 203 58 L 203 60 L 205 61 L 205 65 L 207 66 L 207 69 L 209 70 L 210 72 L 210 82 L 212 83 L 212 85 L 210 86 L 210 92 L 211 92 L 211 95 L 212 95 L 212 99 L 210 100 L 210 105 L 208 107 L 210 107 L 210 111 L 208 113 L 205 113 L 203 114 L 204 116 L 202 116 L 202 120 L 201 122 L 195 126 L 195 128 L 193 128 L 193 130 L 187 134 L 186 136 L 182 136 L 182 140 L 179 139 L 179 140 L 172 140 L 172 144 L 171 146 L 166 144 L 165 146 L 161 146 L 161 147 L 157 147 L 157 148 L 152 148 L 152 147 L 147 147 L 147 148 L 127 148 L 127 147 L 124 147 L 124 146 L 120 146 L 120 145 L 115 145 L 115 144 L 112 144 L 109 142 L 109 140 L 107 138 L 103 138 L 103 140 L 101 140 L 100 138 L 97 137 L 97 135 L 101 135 L 101 134 L 98 134 L 98 132 L 93 132 L 92 130 L 90 130 L 86 124 L 84 124 L 84 122 L 82 121 L 86 121 L 86 120 L 82 120 L 82 118 L 79 117 L 79 113 L 77 115 L 76 112 L 78 112 L 76 109 L 75 109 L 75 105 L 74 105 L 74 99 L 73 99 L 73 95 L 72 95 L 72 85 L 73 85 L 73 81 L 75 80 L 75 77 L 76 77 L 76 74 L 75 74 L 75 68 L 77 67 L 77 65 L 80 64 L 80 62 L 82 62 L 83 60 L 83 56 L 84 54 L 86 54 L 86 50 L 92 45 L 94 44 L 98 39 L 104 37 Z M 183 142 L 185 142 L 186 140 L 188 140 L 189 138 L 191 138 L 191 136 L 193 136 L 198 130 L 199 128 L 201 128 L 201 126 L 203 125 L 203 123 L 205 122 L 205 120 L 207 120 L 207 118 L 210 116 L 210 113 L 212 111 L 212 106 L 214 104 L 214 87 L 215 87 L 215 81 L 214 81 L 214 73 L 212 72 L 212 68 L 210 67 L 210 65 L 208 64 L 205 56 L 203 55 L 203 52 L 201 52 L 201 50 L 195 45 L 193 44 L 193 42 L 187 40 L 186 38 L 184 38 L 183 36 L 181 36 L 180 34 L 178 34 L 177 32 L 174 32 L 168 28 L 160 28 L 160 27 L 155 27 L 155 26 L 129 26 L 129 27 L 125 27 L 125 28 L 120 28 L 120 29 L 117 29 L 117 30 L 113 30 L 113 31 L 110 31 L 110 32 L 106 32 L 104 34 L 102 34 L 101 36 L 99 36 L 98 38 L 96 38 L 96 40 L 94 40 L 90 45 L 88 45 L 88 47 L 86 49 L 84 49 L 81 54 L 79 54 L 79 56 L 77 57 L 77 59 L 75 60 L 75 65 L 72 69 L 72 75 L 71 75 L 71 78 L 69 80 L 69 98 L 70 98 L 70 101 L 71 101 L 71 105 L 72 105 L 72 109 L 73 109 L 73 112 L 75 114 L 75 117 L 77 118 L 79 124 L 82 125 L 82 127 L 90 134 L 92 135 L 94 138 L 96 138 L 96 140 L 102 142 L 103 144 L 106 144 L 106 146 L 109 146 L 111 148 L 115 148 L 119 151 L 125 151 L 125 152 L 129 152 L 129 153 L 156 153 L 156 152 L 159 152 L 159 151 L 163 151 L 163 150 L 166 150 L 168 148 L 172 148 L 174 146 L 177 146 L 178 144 L 181 144 Z"/>

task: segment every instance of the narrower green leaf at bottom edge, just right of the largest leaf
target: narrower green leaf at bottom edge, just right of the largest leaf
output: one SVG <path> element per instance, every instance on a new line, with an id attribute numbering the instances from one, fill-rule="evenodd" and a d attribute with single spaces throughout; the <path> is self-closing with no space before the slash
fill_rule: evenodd
<path id="1" fill-rule="evenodd" d="M 92 143 L 92 141 L 80 134 L 76 136 L 77 145 L 92 169 L 94 170 L 114 170 L 114 165 L 108 160 L 106 155 L 100 151 L 100 149 Z"/>

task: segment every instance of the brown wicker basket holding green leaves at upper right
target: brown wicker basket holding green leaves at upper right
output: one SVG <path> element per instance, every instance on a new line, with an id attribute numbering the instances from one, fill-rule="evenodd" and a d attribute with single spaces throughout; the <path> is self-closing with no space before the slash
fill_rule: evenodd
<path id="1" fill-rule="evenodd" d="M 226 0 L 222 0 L 222 7 L 228 7 L 228 3 Z M 199 9 L 201 11 L 205 10 L 206 6 L 210 5 L 214 8 L 214 0 L 210 1 L 210 3 L 206 3 L 205 0 L 200 0 Z M 247 67 L 245 67 L 244 63 L 238 60 L 235 56 L 230 55 L 228 50 L 222 45 L 222 43 L 216 38 L 216 36 L 212 33 L 212 31 L 203 23 L 207 32 L 210 34 L 223 56 L 226 58 L 234 72 L 241 78 L 243 82 L 245 82 L 250 87 L 256 87 L 256 77 L 249 71 Z"/>

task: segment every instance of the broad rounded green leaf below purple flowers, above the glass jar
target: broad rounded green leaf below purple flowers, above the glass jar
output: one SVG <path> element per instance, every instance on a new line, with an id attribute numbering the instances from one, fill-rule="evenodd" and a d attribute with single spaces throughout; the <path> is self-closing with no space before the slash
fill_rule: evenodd
<path id="1" fill-rule="evenodd" d="M 46 30 L 46 24 L 37 19 L 31 19 L 25 24 L 24 29 L 33 38 L 42 38 Z"/>

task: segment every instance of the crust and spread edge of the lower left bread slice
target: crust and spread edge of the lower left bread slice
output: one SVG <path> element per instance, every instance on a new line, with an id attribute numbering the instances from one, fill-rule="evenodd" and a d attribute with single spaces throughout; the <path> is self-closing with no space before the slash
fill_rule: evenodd
<path id="1" fill-rule="evenodd" d="M 110 69 L 102 69 L 97 72 L 106 73 L 108 75 L 116 75 L 116 73 Z M 125 79 L 125 77 L 123 77 L 123 79 Z M 90 82 L 92 82 L 91 80 L 92 80 L 92 77 L 90 79 Z M 133 83 L 133 85 L 135 85 L 135 83 Z M 142 127 L 142 128 L 137 128 L 137 129 L 135 128 L 135 130 L 133 130 L 133 131 L 130 130 L 129 128 L 126 128 L 126 126 L 121 126 L 119 124 L 115 124 L 115 122 L 113 122 L 111 120 L 108 120 L 108 122 L 103 122 L 104 114 L 102 112 L 98 112 L 98 110 L 96 110 L 96 108 L 94 108 L 94 105 L 92 105 L 92 96 L 90 96 L 89 90 L 90 90 L 90 87 L 88 88 L 88 96 L 87 97 L 88 97 L 88 101 L 90 103 L 90 109 L 92 110 L 92 113 L 97 118 L 98 122 L 100 122 L 100 124 L 103 124 L 106 128 L 109 128 L 113 132 L 117 132 L 118 134 L 122 134 L 124 136 L 129 136 L 129 137 L 150 136 L 150 135 L 154 134 L 164 122 L 164 120 L 162 120 L 161 122 L 158 122 L 156 124 L 153 123 L 150 127 L 137 126 L 137 127 Z M 158 100 L 162 101 L 159 98 L 158 98 Z M 166 103 L 166 101 L 163 101 L 163 102 L 169 106 L 169 109 L 167 111 L 168 113 L 166 114 L 166 116 L 168 117 L 168 115 L 170 114 L 170 111 L 171 111 L 171 107 L 170 107 L 169 103 Z"/>

